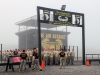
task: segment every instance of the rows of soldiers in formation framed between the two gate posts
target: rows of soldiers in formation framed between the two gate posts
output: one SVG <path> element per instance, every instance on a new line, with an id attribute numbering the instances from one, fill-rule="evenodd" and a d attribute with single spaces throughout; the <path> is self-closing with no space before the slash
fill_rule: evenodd
<path id="1" fill-rule="evenodd" d="M 74 64 L 74 57 L 75 57 L 75 53 L 74 50 L 70 51 L 70 50 L 47 50 L 44 49 L 42 50 L 42 59 L 44 59 L 45 61 L 45 65 L 59 65 L 60 64 L 60 52 L 63 51 L 65 53 L 65 65 L 68 64 Z"/>

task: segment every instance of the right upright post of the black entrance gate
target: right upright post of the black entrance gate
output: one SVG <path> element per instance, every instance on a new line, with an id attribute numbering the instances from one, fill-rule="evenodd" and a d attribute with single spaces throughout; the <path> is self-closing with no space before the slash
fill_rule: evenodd
<path id="1" fill-rule="evenodd" d="M 82 18 L 83 26 L 82 26 L 82 59 L 83 59 L 83 65 L 85 65 L 85 27 L 84 27 L 84 15 Z"/>

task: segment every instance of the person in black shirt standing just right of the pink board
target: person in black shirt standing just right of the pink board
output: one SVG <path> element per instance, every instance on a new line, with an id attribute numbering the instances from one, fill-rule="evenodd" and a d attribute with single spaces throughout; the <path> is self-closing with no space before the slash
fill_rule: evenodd
<path id="1" fill-rule="evenodd" d="M 23 52 L 20 54 L 20 58 L 21 58 L 21 63 L 20 63 L 20 70 L 19 72 L 23 71 L 26 69 L 26 62 L 28 60 L 27 58 L 27 54 L 25 53 L 25 50 L 23 50 Z"/>

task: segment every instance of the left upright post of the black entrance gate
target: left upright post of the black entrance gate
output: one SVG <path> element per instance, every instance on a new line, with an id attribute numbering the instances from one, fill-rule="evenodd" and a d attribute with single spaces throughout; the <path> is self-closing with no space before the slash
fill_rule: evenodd
<path id="1" fill-rule="evenodd" d="M 38 49 L 39 49 L 39 62 L 41 65 L 41 26 L 40 26 L 40 11 L 39 7 L 37 7 L 37 26 L 38 26 Z"/>

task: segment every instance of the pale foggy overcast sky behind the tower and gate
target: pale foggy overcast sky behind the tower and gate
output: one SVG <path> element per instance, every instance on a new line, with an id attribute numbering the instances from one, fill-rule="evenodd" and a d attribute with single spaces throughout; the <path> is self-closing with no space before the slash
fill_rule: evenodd
<path id="1" fill-rule="evenodd" d="M 85 14 L 85 46 L 87 53 L 100 54 L 100 0 L 0 0 L 0 43 L 3 50 L 18 48 L 18 32 L 16 22 L 36 15 L 36 7 L 60 9 L 66 5 L 66 11 Z M 68 27 L 70 46 L 79 46 L 82 54 L 82 30 Z"/>

